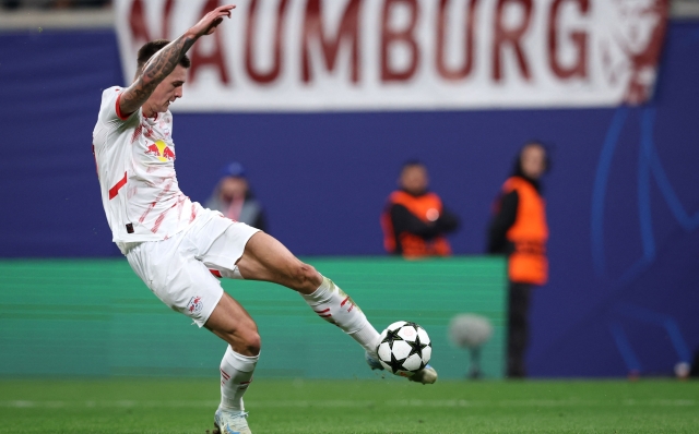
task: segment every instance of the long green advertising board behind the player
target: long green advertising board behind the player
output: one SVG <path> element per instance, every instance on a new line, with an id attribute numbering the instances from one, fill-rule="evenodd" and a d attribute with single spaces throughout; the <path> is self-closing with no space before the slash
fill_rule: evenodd
<path id="1" fill-rule="evenodd" d="M 424 326 L 441 378 L 463 378 L 464 350 L 448 339 L 450 320 L 476 313 L 493 336 L 481 358 L 486 378 L 503 374 L 507 284 L 498 257 L 403 261 L 305 258 L 352 294 L 381 330 L 399 320 Z M 0 262 L 0 376 L 216 376 L 225 345 L 171 312 L 122 260 Z M 324 324 L 291 290 L 223 280 L 262 336 L 257 375 L 366 378 L 356 343 Z"/>

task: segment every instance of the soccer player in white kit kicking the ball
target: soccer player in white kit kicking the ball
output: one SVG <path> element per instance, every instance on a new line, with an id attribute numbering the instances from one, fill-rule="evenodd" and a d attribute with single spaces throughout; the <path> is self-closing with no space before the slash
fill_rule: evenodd
<path id="1" fill-rule="evenodd" d="M 221 361 L 215 433 L 250 433 L 242 395 L 260 353 L 257 325 L 216 277 L 265 280 L 297 291 L 323 320 L 364 349 L 371 369 L 379 334 L 332 280 L 296 258 L 269 234 L 191 202 L 175 174 L 171 103 L 182 96 L 186 52 L 211 35 L 234 5 L 209 12 L 179 38 L 145 44 L 127 87 L 102 95 L 93 149 L 114 241 L 145 285 L 169 308 L 228 343 Z M 431 366 L 411 381 L 437 379 Z"/>

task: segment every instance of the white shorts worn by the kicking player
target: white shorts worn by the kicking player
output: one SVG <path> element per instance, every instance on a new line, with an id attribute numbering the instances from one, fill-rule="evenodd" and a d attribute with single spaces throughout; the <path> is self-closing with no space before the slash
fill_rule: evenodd
<path id="1" fill-rule="evenodd" d="M 189 228 L 167 240 L 142 242 L 126 256 L 163 303 L 202 327 L 223 296 L 214 274 L 241 279 L 236 262 L 258 231 L 203 209 Z"/>

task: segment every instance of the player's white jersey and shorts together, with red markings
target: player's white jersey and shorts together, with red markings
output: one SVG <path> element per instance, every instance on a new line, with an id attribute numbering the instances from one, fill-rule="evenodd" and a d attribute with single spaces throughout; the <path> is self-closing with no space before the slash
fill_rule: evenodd
<path id="1" fill-rule="evenodd" d="M 175 173 L 173 114 L 119 112 L 121 87 L 102 94 L 93 147 L 112 240 L 170 309 L 201 327 L 223 294 L 212 276 L 241 278 L 235 265 L 258 229 L 203 208 Z"/>

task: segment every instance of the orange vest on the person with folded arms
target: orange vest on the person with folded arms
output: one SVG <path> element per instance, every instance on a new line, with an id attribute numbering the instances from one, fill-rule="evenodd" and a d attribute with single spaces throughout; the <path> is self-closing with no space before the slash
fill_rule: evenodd
<path id="1" fill-rule="evenodd" d="M 398 251 L 398 244 L 400 243 L 403 255 L 406 257 L 451 255 L 451 246 L 445 237 L 435 237 L 431 240 L 425 240 L 419 236 L 407 232 L 396 234 L 393 230 L 393 224 L 391 222 L 390 208 L 392 205 L 403 205 L 411 214 L 425 222 L 431 221 L 428 216 L 433 217 L 434 220 L 435 212 L 438 213 L 437 216 L 442 213 L 441 200 L 435 193 L 427 193 L 420 196 L 413 196 L 403 191 L 391 193 L 388 200 L 387 210 L 381 215 L 383 246 L 387 252 L 395 253 Z"/>

